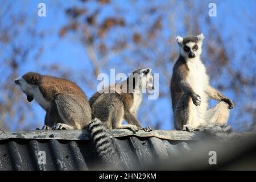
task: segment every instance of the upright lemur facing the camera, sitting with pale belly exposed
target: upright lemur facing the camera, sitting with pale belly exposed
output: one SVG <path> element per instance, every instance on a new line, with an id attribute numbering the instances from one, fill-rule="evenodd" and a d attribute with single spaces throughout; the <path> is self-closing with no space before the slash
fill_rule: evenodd
<path id="1" fill-rule="evenodd" d="M 176 130 L 195 129 L 207 125 L 227 126 L 229 109 L 234 105 L 220 91 L 209 85 L 209 77 L 201 62 L 201 47 L 204 35 L 177 36 L 180 56 L 177 59 L 171 78 L 172 110 Z M 208 100 L 220 101 L 208 109 Z M 207 129 L 207 127 L 205 127 Z"/>

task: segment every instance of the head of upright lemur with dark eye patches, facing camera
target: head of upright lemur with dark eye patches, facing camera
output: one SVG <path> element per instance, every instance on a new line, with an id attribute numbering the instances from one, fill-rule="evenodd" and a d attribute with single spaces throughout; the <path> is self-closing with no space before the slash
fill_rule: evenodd
<path id="1" fill-rule="evenodd" d="M 203 34 L 197 36 L 186 36 L 185 38 L 177 36 L 177 43 L 180 46 L 180 55 L 185 59 L 195 59 L 200 57 L 203 40 Z"/>

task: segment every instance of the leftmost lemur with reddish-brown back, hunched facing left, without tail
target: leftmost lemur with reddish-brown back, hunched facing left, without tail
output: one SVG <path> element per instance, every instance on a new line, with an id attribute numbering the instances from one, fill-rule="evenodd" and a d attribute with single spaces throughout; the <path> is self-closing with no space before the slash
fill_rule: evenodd
<path id="1" fill-rule="evenodd" d="M 46 110 L 43 130 L 85 129 L 91 122 L 91 109 L 82 90 L 62 78 L 28 72 L 17 78 L 28 102 L 36 100 Z"/>

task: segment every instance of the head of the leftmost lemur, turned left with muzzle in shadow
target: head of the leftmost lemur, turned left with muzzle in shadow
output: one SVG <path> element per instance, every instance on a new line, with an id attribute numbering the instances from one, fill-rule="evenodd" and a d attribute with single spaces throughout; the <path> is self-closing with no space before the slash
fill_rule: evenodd
<path id="1" fill-rule="evenodd" d="M 38 73 L 28 72 L 22 77 L 14 80 L 15 84 L 19 85 L 22 91 L 27 95 L 28 102 L 34 100 L 34 95 L 36 88 L 38 88 L 40 77 L 41 76 Z"/>

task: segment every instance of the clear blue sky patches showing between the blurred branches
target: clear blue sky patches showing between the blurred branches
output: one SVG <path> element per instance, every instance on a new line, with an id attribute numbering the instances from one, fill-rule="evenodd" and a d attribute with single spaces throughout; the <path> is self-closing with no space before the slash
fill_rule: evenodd
<path id="1" fill-rule="evenodd" d="M 64 9 L 67 7 L 72 7 L 75 5 L 82 6 L 83 3 L 80 1 L 38 1 L 38 0 L 31 0 L 31 1 L 13 1 L 14 2 L 14 9 L 12 13 L 15 13 L 15 11 L 26 11 L 27 14 L 31 16 L 31 18 L 36 18 L 38 21 L 38 24 L 36 26 L 37 30 L 46 30 L 48 32 L 45 39 L 43 39 L 42 44 L 44 45 L 44 52 L 40 56 L 39 61 L 36 62 L 33 57 L 30 57 L 30 60 L 28 61 L 27 65 L 24 65 L 20 69 L 20 75 L 22 75 L 25 72 L 28 71 L 40 71 L 42 74 L 50 74 L 53 76 L 56 73 L 48 73 L 47 71 L 44 71 L 40 69 L 42 65 L 47 65 L 51 63 L 60 64 L 61 67 L 63 67 L 63 70 L 65 69 L 71 69 L 72 71 L 79 71 L 84 70 L 84 67 L 90 69 L 92 65 L 89 64 L 88 56 L 86 55 L 84 48 L 81 46 L 81 43 L 79 40 L 76 39 L 75 36 L 72 34 L 65 37 L 60 38 L 58 32 L 60 30 L 60 27 L 64 26 L 65 23 L 67 23 L 67 16 L 64 15 Z M 38 3 L 43 2 L 46 3 L 47 6 L 47 16 L 46 17 L 38 17 Z M 139 16 L 137 14 L 136 10 L 133 9 L 133 5 L 129 3 L 129 1 L 113 1 L 114 3 L 118 3 L 121 7 L 123 7 L 123 10 L 127 11 L 127 21 L 133 22 L 133 19 L 135 16 Z M 156 4 L 163 4 L 165 5 L 168 1 L 153 1 L 152 3 Z M 243 27 L 243 24 L 240 24 L 238 19 L 244 18 L 245 15 L 249 15 L 250 17 L 256 17 L 255 16 L 255 8 L 256 3 L 255 1 L 208 1 L 208 2 L 216 2 L 217 4 L 217 17 L 212 18 L 213 23 L 219 28 L 221 31 L 221 34 L 224 37 L 224 40 L 226 41 L 226 44 L 230 44 L 230 46 L 236 47 L 237 50 L 242 49 L 249 49 L 249 45 L 247 45 L 246 40 L 243 39 L 243 35 L 245 34 L 251 34 L 253 38 L 255 38 L 255 25 L 252 26 L 254 30 L 252 29 L 251 32 L 245 32 L 245 28 Z M 143 7 L 147 6 L 147 1 L 139 1 L 141 4 L 140 8 L 143 9 Z M 201 3 L 201 1 L 196 1 L 197 3 Z M 179 7 L 182 6 L 183 2 L 176 1 L 175 6 Z M 208 5 L 208 3 L 205 3 L 205 5 Z M 89 2 L 86 3 L 86 7 L 92 11 L 96 7 L 96 3 Z M 208 7 L 205 7 L 203 14 L 208 14 Z M 101 13 L 101 16 L 104 17 L 104 14 L 116 14 L 111 6 L 107 7 L 104 12 Z M 175 28 L 177 34 L 181 36 L 184 35 L 184 25 L 181 22 L 174 22 Z M 202 30 L 204 31 L 204 27 L 202 27 Z M 164 31 L 164 34 L 169 34 L 168 30 Z M 255 40 L 255 39 L 254 39 Z M 206 39 L 207 41 L 207 39 Z M 159 45 L 160 46 L 160 45 Z M 178 50 L 177 50 L 178 51 Z M 236 52 L 238 55 L 240 54 L 240 51 Z M 239 56 L 238 56 L 239 57 Z M 115 59 L 115 58 L 113 58 Z M 236 63 L 230 63 L 233 67 L 238 67 L 239 64 Z M 254 72 L 255 71 L 255 64 L 250 67 L 251 70 L 248 72 Z M 170 68 L 171 70 L 171 68 Z M 131 68 L 131 71 L 133 71 L 133 68 Z M 108 73 L 108 72 L 107 72 Z M 86 74 L 86 73 L 85 73 Z M 170 72 L 171 75 L 171 72 Z M 79 85 L 81 85 L 82 89 L 85 91 L 88 97 L 92 96 L 93 90 L 86 90 L 86 88 L 83 86 L 82 83 L 79 82 L 79 78 L 74 75 L 71 77 L 72 80 L 77 81 Z M 167 88 L 168 89 L 168 88 Z M 232 98 L 231 93 L 225 93 L 226 96 Z M 24 97 L 25 101 L 25 97 Z M 153 102 L 158 102 L 158 105 L 161 107 L 158 108 L 159 113 L 164 115 L 164 118 L 159 116 L 159 119 L 163 120 L 163 125 L 161 126 L 161 129 L 173 129 L 172 123 L 170 122 L 171 118 L 171 110 L 170 110 L 170 100 L 168 98 L 164 98 L 161 100 L 156 100 Z M 211 102 L 213 104 L 214 102 Z M 35 111 L 38 115 L 38 118 L 40 121 L 42 121 L 43 125 L 43 119 L 44 119 L 44 110 L 38 106 L 35 102 L 32 103 L 34 107 L 36 108 Z M 233 113 L 234 111 L 232 111 Z M 234 126 L 234 123 L 231 123 L 231 125 Z"/>

